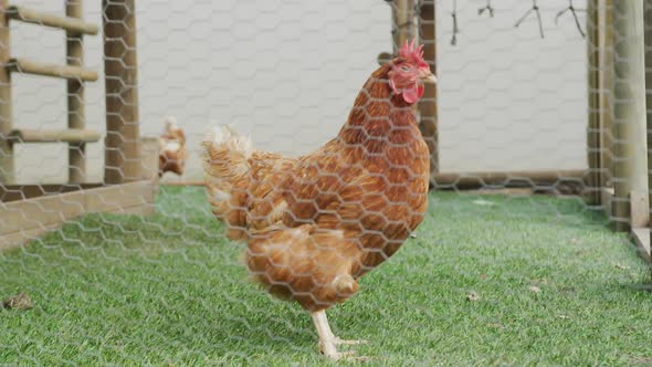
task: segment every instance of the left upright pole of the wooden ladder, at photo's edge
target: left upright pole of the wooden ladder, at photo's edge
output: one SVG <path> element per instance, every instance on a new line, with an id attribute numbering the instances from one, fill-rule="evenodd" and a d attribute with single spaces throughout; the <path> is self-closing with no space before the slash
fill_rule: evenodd
<path id="1" fill-rule="evenodd" d="M 3 67 L 11 59 L 9 18 L 6 14 L 9 0 L 0 0 L 0 184 L 13 184 L 13 146 L 9 141 L 11 124 L 11 73 Z"/>

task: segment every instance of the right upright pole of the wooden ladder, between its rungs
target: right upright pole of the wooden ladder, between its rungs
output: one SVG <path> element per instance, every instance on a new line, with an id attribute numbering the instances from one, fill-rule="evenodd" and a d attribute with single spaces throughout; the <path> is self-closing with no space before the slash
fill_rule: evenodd
<path id="1" fill-rule="evenodd" d="M 66 0 L 65 14 L 70 18 L 82 19 L 84 0 Z M 83 66 L 84 43 L 83 34 L 66 32 L 66 63 L 72 66 Z M 84 82 L 67 80 L 67 127 L 85 127 Z M 82 184 L 86 180 L 86 144 L 83 141 L 69 144 L 69 182 Z"/>

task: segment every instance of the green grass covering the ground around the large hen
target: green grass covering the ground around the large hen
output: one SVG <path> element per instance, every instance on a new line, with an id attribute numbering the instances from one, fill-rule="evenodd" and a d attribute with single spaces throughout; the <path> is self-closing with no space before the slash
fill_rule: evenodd
<path id="1" fill-rule="evenodd" d="M 602 217 L 547 197 L 430 208 L 329 311 L 336 334 L 371 340 L 357 349 L 372 364 L 652 364 L 649 269 Z M 0 253 L 0 295 L 35 305 L 0 311 L 0 364 L 328 364 L 309 316 L 249 282 L 201 189 L 164 189 L 158 212 L 86 216 Z"/>

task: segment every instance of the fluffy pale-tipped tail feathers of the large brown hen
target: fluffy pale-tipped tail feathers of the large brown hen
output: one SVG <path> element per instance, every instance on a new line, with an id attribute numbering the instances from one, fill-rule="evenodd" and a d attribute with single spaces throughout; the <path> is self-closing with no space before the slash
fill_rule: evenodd
<path id="1" fill-rule="evenodd" d="M 229 237 L 239 238 L 245 227 L 249 158 L 253 148 L 249 137 L 229 126 L 212 128 L 201 141 L 201 160 L 213 213 L 229 227 Z"/>

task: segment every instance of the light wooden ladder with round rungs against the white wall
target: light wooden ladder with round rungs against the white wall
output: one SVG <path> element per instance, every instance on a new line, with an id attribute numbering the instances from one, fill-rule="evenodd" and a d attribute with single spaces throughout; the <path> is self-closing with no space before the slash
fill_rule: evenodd
<path id="1" fill-rule="evenodd" d="M 65 17 L 10 6 L 0 0 L 0 184 L 13 184 L 13 145 L 67 143 L 69 182 L 86 180 L 85 145 L 99 140 L 99 133 L 85 128 L 84 83 L 97 80 L 97 72 L 83 67 L 83 35 L 95 35 L 98 27 L 84 22 L 83 0 L 65 0 Z M 66 65 L 13 59 L 10 53 L 10 20 L 64 30 Z M 67 80 L 67 129 L 17 129 L 12 124 L 11 74 L 24 73 Z"/>

